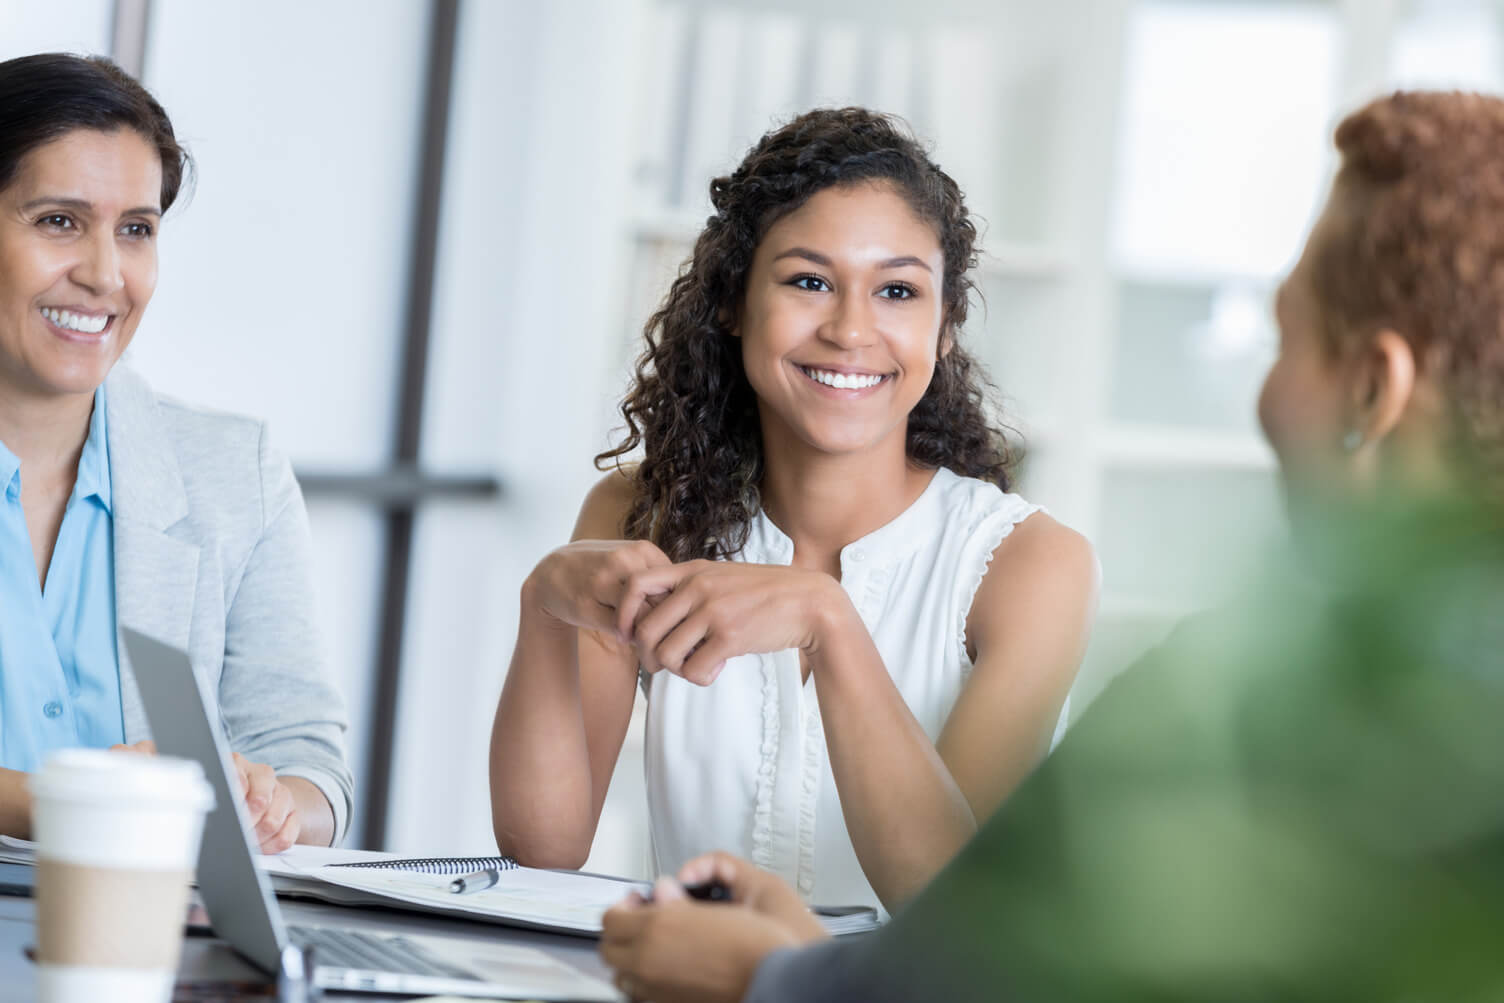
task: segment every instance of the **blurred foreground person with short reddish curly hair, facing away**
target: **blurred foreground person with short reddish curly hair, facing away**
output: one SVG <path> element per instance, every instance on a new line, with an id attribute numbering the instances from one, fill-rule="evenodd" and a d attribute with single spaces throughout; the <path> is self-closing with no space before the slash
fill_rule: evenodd
<path id="1" fill-rule="evenodd" d="M 630 997 L 1501 998 L 1504 101 L 1394 95 L 1337 147 L 1259 408 L 1325 588 L 1182 626 L 872 937 L 690 862 L 734 904 L 608 913 Z"/>

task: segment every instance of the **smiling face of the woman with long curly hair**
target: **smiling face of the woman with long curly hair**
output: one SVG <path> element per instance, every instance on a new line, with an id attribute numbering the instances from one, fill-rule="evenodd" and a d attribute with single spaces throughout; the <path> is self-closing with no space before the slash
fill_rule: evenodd
<path id="1" fill-rule="evenodd" d="M 940 344 L 945 257 L 886 185 L 817 192 L 769 229 L 737 319 L 767 447 L 904 454 Z"/>

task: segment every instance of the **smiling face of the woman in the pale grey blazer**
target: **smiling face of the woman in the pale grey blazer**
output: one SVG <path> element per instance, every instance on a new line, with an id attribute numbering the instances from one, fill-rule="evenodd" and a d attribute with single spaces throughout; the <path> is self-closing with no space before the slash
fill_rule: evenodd
<path id="1" fill-rule="evenodd" d="M 131 129 L 33 149 L 0 191 L 0 386 L 90 394 L 156 287 L 162 165 Z"/>

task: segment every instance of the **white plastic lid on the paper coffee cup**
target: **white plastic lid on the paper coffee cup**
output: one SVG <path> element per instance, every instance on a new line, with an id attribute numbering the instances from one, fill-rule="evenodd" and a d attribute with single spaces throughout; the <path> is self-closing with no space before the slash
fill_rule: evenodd
<path id="1" fill-rule="evenodd" d="M 152 801 L 214 808 L 214 788 L 193 759 L 107 749 L 62 749 L 29 779 L 38 798 L 62 801 Z"/>

